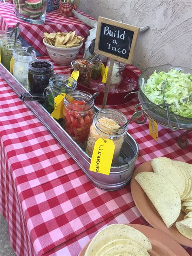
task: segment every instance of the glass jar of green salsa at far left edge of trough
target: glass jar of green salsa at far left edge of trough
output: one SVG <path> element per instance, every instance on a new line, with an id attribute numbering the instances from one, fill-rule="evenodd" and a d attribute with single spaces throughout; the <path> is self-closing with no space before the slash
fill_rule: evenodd
<path id="1" fill-rule="evenodd" d="M 4 38 L 1 41 L 1 63 L 6 67 L 7 70 L 10 70 L 10 62 L 13 56 L 13 49 L 21 46 L 21 41 L 17 39 L 14 47 L 13 38 Z"/>

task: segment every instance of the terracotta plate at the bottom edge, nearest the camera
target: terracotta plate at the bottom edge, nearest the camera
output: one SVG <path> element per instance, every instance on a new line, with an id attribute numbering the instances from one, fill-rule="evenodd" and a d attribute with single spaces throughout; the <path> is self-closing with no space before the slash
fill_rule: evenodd
<path id="1" fill-rule="evenodd" d="M 189 256 L 186 250 L 183 249 L 181 245 L 179 245 L 176 241 L 174 241 L 171 237 L 165 235 L 155 228 L 150 228 L 148 226 L 139 225 L 139 224 L 127 224 L 132 228 L 136 228 L 141 231 L 146 237 L 148 237 L 149 241 L 152 245 L 152 250 L 149 252 L 151 256 Z M 87 250 L 87 243 L 85 247 L 79 253 L 79 256 L 84 256 L 85 251 Z"/>

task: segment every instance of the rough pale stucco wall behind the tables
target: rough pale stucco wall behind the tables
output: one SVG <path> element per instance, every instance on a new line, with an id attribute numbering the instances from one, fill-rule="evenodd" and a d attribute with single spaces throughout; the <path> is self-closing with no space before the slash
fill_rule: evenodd
<path id="1" fill-rule="evenodd" d="M 190 0 L 81 0 L 79 9 L 94 18 L 150 26 L 140 33 L 133 64 L 175 64 L 192 68 L 192 1 Z"/>

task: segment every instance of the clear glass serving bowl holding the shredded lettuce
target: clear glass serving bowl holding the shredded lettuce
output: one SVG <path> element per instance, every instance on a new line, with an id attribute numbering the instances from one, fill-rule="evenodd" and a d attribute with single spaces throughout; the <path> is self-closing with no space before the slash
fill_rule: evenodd
<path id="1" fill-rule="evenodd" d="M 141 74 L 141 76 L 139 77 L 139 94 L 138 94 L 139 102 L 149 102 L 149 105 L 147 105 L 147 104 L 142 105 L 143 110 L 147 109 L 148 107 L 151 107 L 152 103 L 147 98 L 147 96 L 144 94 L 144 92 L 142 91 L 142 87 L 141 87 L 142 79 L 144 78 L 145 82 L 146 82 L 147 79 L 149 79 L 150 75 L 152 75 L 155 70 L 157 73 L 160 71 L 164 71 L 167 73 L 171 68 L 178 68 L 179 70 L 181 70 L 184 73 L 192 73 L 192 70 L 190 68 L 173 66 L 173 65 L 161 65 L 161 66 L 149 67 Z M 147 110 L 147 111 L 145 111 L 145 113 L 148 117 L 151 117 L 159 124 L 162 124 L 165 127 L 169 126 L 168 120 L 167 120 L 167 111 L 164 110 L 162 107 L 156 107 L 155 109 Z M 172 128 L 177 127 L 177 122 L 175 120 L 174 115 L 177 117 L 177 119 L 180 122 L 180 129 L 186 129 L 186 130 L 192 129 L 192 118 L 183 117 L 181 115 L 176 115 L 176 114 L 173 114 L 170 112 Z"/>

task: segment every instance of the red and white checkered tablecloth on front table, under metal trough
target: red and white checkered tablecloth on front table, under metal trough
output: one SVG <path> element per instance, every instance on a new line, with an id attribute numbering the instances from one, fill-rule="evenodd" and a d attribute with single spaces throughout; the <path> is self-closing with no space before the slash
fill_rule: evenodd
<path id="1" fill-rule="evenodd" d="M 54 65 L 56 73 L 64 68 Z M 137 102 L 134 98 L 114 108 L 130 117 Z M 192 163 L 190 134 L 190 145 L 181 149 L 177 137 L 183 131 L 159 126 L 159 143 L 150 137 L 147 123 L 130 124 L 129 132 L 139 144 L 136 167 L 157 156 Z M 77 256 L 107 224 L 147 225 L 130 184 L 111 192 L 96 188 L 2 78 L 0 140 L 0 212 L 17 255 Z"/>

